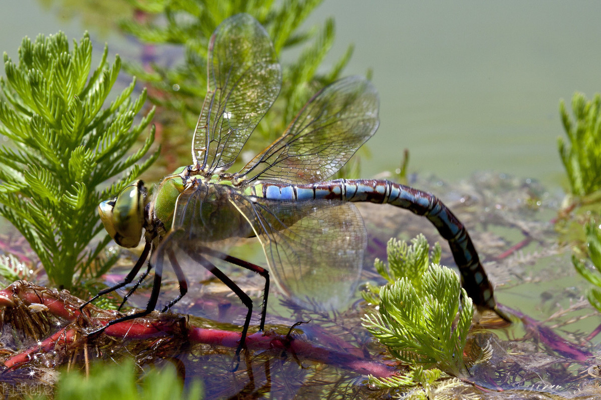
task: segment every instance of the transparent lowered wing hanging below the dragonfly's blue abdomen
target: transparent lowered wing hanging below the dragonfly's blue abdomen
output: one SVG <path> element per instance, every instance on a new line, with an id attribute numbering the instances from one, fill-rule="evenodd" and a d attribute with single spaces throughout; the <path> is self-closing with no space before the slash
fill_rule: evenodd
<path id="1" fill-rule="evenodd" d="M 274 201 L 253 206 L 257 234 L 278 287 L 309 309 L 344 306 L 361 274 L 367 234 L 351 203 Z"/>

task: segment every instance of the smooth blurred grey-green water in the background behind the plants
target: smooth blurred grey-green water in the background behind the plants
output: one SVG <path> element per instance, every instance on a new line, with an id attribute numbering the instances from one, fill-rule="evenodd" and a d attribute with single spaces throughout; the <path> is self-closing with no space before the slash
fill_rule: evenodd
<path id="1" fill-rule="evenodd" d="M 0 50 L 17 59 L 25 35 L 62 30 L 79 40 L 88 30 L 95 51 L 108 42 L 109 52 L 139 61 L 111 29 L 129 17 L 119 3 L 3 0 Z M 95 7 L 110 7 L 106 21 Z M 364 178 L 394 172 L 409 149 L 409 172 L 443 181 L 495 170 L 558 187 L 560 98 L 601 91 L 599 15 L 595 1 L 325 0 L 305 25 L 335 19 L 325 68 L 355 44 L 343 74 L 373 71 L 381 123 L 361 160 Z"/>

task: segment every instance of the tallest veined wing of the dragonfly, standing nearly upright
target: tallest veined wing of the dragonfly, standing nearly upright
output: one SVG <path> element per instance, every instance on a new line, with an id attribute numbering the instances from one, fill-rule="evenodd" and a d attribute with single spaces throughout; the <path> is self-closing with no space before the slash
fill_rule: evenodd
<path id="1" fill-rule="evenodd" d="M 227 170 L 278 97 L 281 67 L 269 35 L 248 14 L 213 33 L 207 58 L 207 97 L 192 141 L 197 169 Z"/>

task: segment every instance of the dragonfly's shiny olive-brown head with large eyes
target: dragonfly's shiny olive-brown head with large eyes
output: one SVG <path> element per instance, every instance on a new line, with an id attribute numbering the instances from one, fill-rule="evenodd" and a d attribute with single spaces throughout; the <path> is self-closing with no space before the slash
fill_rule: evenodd
<path id="1" fill-rule="evenodd" d="M 129 248 L 140 242 L 147 193 L 144 182 L 135 181 L 115 199 L 103 201 L 98 206 L 102 224 L 118 245 Z"/>

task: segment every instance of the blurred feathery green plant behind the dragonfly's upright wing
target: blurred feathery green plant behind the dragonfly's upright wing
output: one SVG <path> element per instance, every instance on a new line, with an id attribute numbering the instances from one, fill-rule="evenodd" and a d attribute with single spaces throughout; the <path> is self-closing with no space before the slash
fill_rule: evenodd
<path id="1" fill-rule="evenodd" d="M 171 147 L 174 151 L 183 149 L 185 154 L 182 154 L 182 157 L 185 157 L 186 163 L 189 162 L 188 147 L 180 146 L 179 143 L 171 146 L 168 141 L 180 140 L 183 127 L 177 126 L 178 122 L 181 124 L 181 121 L 185 121 L 188 128 L 195 127 L 203 105 L 202 99 L 206 95 L 209 38 L 219 23 L 237 13 L 251 14 L 265 27 L 272 38 L 279 59 L 282 60 L 282 53 L 285 50 L 293 50 L 288 52 L 288 56 L 282 61 L 282 89 L 278 100 L 272 107 L 272 111 L 267 113 L 255 130 L 252 146 L 257 148 L 245 149 L 260 151 L 278 137 L 288 122 L 318 89 L 340 77 L 341 71 L 352 55 L 353 47 L 349 46 L 347 52 L 329 68 L 329 71 L 323 68 L 322 62 L 334 44 L 333 19 L 326 20 L 320 28 L 313 27 L 308 31 L 299 32 L 302 23 L 321 1 L 150 0 L 135 2 L 136 7 L 146 13 L 149 22 L 143 25 L 134 21 L 123 22 L 122 27 L 126 32 L 144 43 L 171 44 L 183 47 L 184 50 L 182 64 L 151 65 L 150 73 L 142 66 L 126 65 L 130 73 L 157 89 L 151 101 L 180 114 L 180 117 L 172 117 L 175 126 L 167 128 L 163 134 L 163 140 L 166 141 L 165 148 L 169 148 L 170 153 Z M 191 129 L 188 131 L 192 132 Z M 180 162 L 183 160 L 178 161 Z M 173 167 L 177 165 L 169 168 Z"/>

